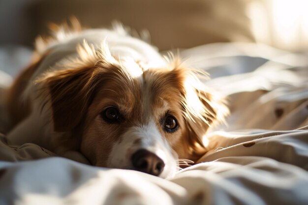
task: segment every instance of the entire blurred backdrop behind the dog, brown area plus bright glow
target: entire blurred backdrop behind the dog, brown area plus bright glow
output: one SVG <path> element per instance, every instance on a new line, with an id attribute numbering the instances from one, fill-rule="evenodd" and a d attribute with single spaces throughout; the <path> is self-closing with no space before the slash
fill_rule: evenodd
<path id="1" fill-rule="evenodd" d="M 49 22 L 76 16 L 83 26 L 119 20 L 146 29 L 160 50 L 213 42 L 308 48 L 308 0 L 0 0 L 0 45 L 32 46 Z"/>

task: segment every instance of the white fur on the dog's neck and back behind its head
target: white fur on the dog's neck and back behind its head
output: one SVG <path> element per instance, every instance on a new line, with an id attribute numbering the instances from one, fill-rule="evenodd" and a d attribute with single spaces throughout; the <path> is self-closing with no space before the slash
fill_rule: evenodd
<path id="1" fill-rule="evenodd" d="M 76 48 L 84 42 L 93 45 L 95 50 L 107 47 L 111 55 L 119 60 L 130 58 L 142 62 L 147 67 L 163 67 L 166 65 L 166 61 L 159 55 L 156 48 L 142 40 L 113 30 L 89 29 L 75 35 L 72 34 L 59 42 L 51 43 L 40 51 L 41 55 L 44 55 L 45 52 L 49 53 L 34 73 L 32 80 L 35 80 L 50 67 L 56 69 L 56 62 L 61 62 L 61 60 L 67 58 L 78 58 Z"/>

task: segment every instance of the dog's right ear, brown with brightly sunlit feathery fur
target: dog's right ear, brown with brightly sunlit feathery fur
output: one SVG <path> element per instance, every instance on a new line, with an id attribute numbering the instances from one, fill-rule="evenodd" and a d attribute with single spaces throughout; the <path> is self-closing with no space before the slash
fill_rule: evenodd
<path id="1" fill-rule="evenodd" d="M 216 123 L 224 122 L 229 110 L 225 99 L 199 80 L 206 78 L 206 73 L 185 68 L 181 64 L 176 65 L 174 72 L 181 85 L 186 127 L 181 144 L 188 155 L 183 157 L 195 161 L 207 151 L 203 144 L 207 130 Z"/>

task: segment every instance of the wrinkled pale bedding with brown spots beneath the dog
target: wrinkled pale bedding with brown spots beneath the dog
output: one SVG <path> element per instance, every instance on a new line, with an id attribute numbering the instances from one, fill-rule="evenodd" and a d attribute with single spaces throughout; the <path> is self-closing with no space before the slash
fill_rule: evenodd
<path id="1" fill-rule="evenodd" d="M 211 74 L 204 83 L 231 110 L 210 129 L 198 164 L 162 179 L 8 146 L 0 134 L 0 205 L 307 205 L 307 54 L 226 43 L 180 55 Z"/>

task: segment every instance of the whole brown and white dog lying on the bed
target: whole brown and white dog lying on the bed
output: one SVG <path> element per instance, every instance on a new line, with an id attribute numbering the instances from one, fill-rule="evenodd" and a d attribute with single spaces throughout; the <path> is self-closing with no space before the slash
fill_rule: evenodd
<path id="1" fill-rule="evenodd" d="M 227 109 L 202 72 L 164 58 L 123 27 L 57 27 L 36 40 L 35 60 L 8 97 L 10 144 L 35 143 L 90 164 L 173 176 L 206 150 Z"/>

